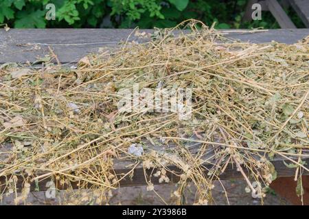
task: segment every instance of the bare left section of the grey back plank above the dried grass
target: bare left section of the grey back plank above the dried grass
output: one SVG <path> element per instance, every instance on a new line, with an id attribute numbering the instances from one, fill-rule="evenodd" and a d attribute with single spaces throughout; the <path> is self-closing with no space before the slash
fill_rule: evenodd
<path id="1" fill-rule="evenodd" d="M 60 62 L 76 63 L 102 47 L 115 47 L 133 29 L 10 29 L 0 31 L 0 63 L 35 62 L 52 47 Z M 149 31 L 149 30 L 148 30 Z M 131 40 L 137 38 L 133 36 Z"/>

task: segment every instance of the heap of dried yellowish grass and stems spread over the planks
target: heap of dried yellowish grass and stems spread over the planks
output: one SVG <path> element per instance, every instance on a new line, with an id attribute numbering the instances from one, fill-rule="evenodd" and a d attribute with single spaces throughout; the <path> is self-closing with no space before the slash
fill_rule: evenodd
<path id="1" fill-rule="evenodd" d="M 184 27 L 190 33 L 183 34 Z M 38 69 L 1 66 L 0 143 L 12 144 L 0 152 L 5 194 L 16 192 L 14 175 L 24 177 L 16 203 L 25 200 L 30 183 L 55 177 L 69 191 L 71 181 L 78 181 L 81 190 L 70 193 L 66 203 L 104 204 L 124 177 L 113 174 L 119 157 L 131 159 L 133 170 L 137 164 L 159 168 L 153 174 L 162 182 L 170 181 L 169 165 L 180 168 L 172 194 L 179 203 L 188 181 L 197 188 L 196 203 L 211 201 L 212 181 L 228 163 L 262 196 L 275 178 L 269 162 L 274 156 L 290 159 L 298 176 L 308 170 L 301 162 L 309 148 L 308 38 L 293 45 L 250 44 L 196 21 L 152 38 L 89 55 L 76 69 L 50 63 Z M 118 112 L 117 91 L 133 83 L 139 89 L 191 88 L 192 119 L 179 120 L 174 112 Z M 141 157 L 128 153 L 131 144 L 145 141 L 161 150 L 143 144 Z M 194 154 L 188 142 L 198 143 Z M 208 175 L 204 164 L 213 164 Z M 253 181 L 261 186 L 253 188 Z M 92 190 L 82 190 L 87 183 Z"/>

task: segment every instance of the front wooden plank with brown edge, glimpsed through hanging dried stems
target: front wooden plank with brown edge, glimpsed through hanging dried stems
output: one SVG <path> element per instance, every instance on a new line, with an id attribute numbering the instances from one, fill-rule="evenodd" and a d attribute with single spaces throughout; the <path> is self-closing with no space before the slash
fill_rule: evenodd
<path id="1" fill-rule="evenodd" d="M 145 144 L 147 145 L 146 147 L 146 151 L 145 153 L 148 153 L 148 151 L 150 150 L 154 150 L 154 151 L 158 151 L 159 153 L 170 153 L 169 151 L 172 149 L 177 149 L 176 144 L 169 144 L 169 146 L 166 149 L 162 149 L 161 146 L 153 146 L 152 144 L 150 144 L 150 142 L 148 142 L 147 140 L 145 140 Z M 188 150 L 190 151 L 190 153 L 192 153 L 192 156 L 196 155 L 198 153 L 198 149 L 200 149 L 201 144 L 196 144 L 196 143 L 187 143 L 186 146 L 188 146 Z M 201 166 L 201 168 L 204 171 L 205 176 L 207 176 L 207 173 L 209 170 L 211 170 L 211 168 L 214 167 L 214 164 L 218 165 L 218 159 L 220 158 L 215 158 L 214 156 L 214 149 L 216 149 L 219 146 L 214 146 L 214 147 L 210 147 L 205 154 L 203 155 L 203 157 L 201 157 L 201 159 L 207 161 L 204 162 L 204 164 Z M 0 145 L 0 152 L 10 152 L 10 150 L 12 149 L 12 144 L 5 144 L 5 145 Z M 309 168 L 309 151 L 306 152 L 306 150 L 303 150 L 304 153 L 304 158 L 302 158 L 302 162 L 304 162 L 304 166 L 306 168 Z M 306 154 L 306 155 L 305 155 Z M 0 153 L 0 159 L 6 159 L 8 157 L 5 157 L 5 153 L 1 155 Z M 291 159 L 293 157 L 290 157 Z M 294 157 L 295 161 L 297 161 L 297 157 Z M 124 175 L 127 175 L 126 177 L 124 177 L 124 179 L 122 179 L 122 181 L 120 181 L 119 185 L 121 187 L 130 187 L 130 186 L 138 186 L 138 185 L 147 185 L 147 183 L 150 181 L 153 184 L 159 184 L 159 179 L 158 177 L 150 177 L 150 175 L 153 175 L 155 172 L 157 172 L 158 168 L 150 168 L 149 170 L 146 170 L 146 172 L 144 172 L 144 167 L 142 166 L 142 164 L 137 164 L 137 159 L 128 159 L 127 155 L 126 157 L 122 158 L 120 157 L 119 159 L 114 159 L 114 164 L 113 164 L 113 174 L 117 175 L 117 178 L 120 179 L 122 177 L 124 177 Z M 295 168 L 288 168 L 286 167 L 286 164 L 284 164 L 284 162 L 286 162 L 287 164 L 290 164 L 290 161 L 285 160 L 282 157 L 276 156 L 273 161 L 271 161 L 273 163 L 273 165 L 275 166 L 275 170 L 277 171 L 277 177 L 290 177 L 290 176 L 294 176 L 295 175 Z M 130 171 L 132 170 L 133 166 L 136 166 L 136 168 L 134 169 L 134 175 L 131 178 L 130 176 Z M 166 168 L 168 168 L 170 171 L 167 171 L 167 176 L 170 179 L 170 183 L 176 183 L 179 181 L 179 175 L 181 175 L 183 172 L 181 169 L 177 168 L 176 166 L 173 165 L 169 165 Z M 225 179 L 242 179 L 242 175 L 239 171 L 236 170 L 236 165 L 235 164 L 229 164 L 227 165 L 227 168 L 225 168 L 225 171 L 223 173 L 220 174 L 220 179 L 225 180 Z M 246 172 L 246 168 L 243 168 L 244 172 L 246 173 L 247 176 L 249 176 L 249 172 Z M 86 170 L 87 171 L 87 170 Z M 0 171 L 1 172 L 1 171 Z M 36 172 L 35 176 L 41 176 L 46 174 L 47 172 Z M 65 172 L 68 173 L 68 172 Z M 70 175 L 74 175 L 74 172 L 69 172 Z M 61 174 L 59 174 L 61 175 Z M 304 175 L 309 175 L 308 171 L 304 171 Z M 11 175 L 12 176 L 12 175 Z M 3 192 L 4 190 L 7 190 L 7 188 L 5 187 L 5 181 L 7 179 L 10 179 L 11 176 L 6 177 L 0 177 L 0 193 Z M 148 176 L 148 177 L 146 177 Z M 23 188 L 23 177 L 21 177 L 19 175 L 19 173 L 16 173 L 16 177 L 18 177 L 18 181 L 17 181 L 17 185 L 16 188 L 18 188 L 18 190 L 21 190 L 21 188 Z M 34 177 L 30 177 L 30 179 L 33 179 Z M 36 185 L 36 183 L 34 181 L 32 181 L 31 184 L 31 190 L 35 191 L 35 190 L 40 190 L 40 191 L 45 191 L 46 188 L 46 184 L 49 181 L 54 181 L 54 183 L 56 184 L 57 188 L 59 190 L 63 190 L 67 188 L 67 184 L 65 185 L 61 185 L 60 181 L 57 181 L 56 179 L 54 179 L 54 177 L 51 176 L 47 176 L 45 178 L 41 178 L 38 181 L 38 184 Z M 102 182 L 104 183 L 104 182 Z M 76 181 L 71 181 L 71 186 L 73 188 L 78 188 L 78 179 L 76 179 Z M 91 183 L 87 184 L 88 188 L 91 188 Z M 117 187 L 117 185 L 113 185 L 115 187 Z"/>

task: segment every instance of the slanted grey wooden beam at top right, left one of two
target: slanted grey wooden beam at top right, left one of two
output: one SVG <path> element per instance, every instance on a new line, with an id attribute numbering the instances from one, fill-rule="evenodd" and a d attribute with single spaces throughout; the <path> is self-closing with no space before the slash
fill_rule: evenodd
<path id="1" fill-rule="evenodd" d="M 266 4 L 281 28 L 296 28 L 277 0 L 267 0 Z"/>

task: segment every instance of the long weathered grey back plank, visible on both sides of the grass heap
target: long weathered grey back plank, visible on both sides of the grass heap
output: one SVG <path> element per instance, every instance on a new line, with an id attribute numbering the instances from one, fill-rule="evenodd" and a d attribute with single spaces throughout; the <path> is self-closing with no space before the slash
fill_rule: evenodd
<path id="1" fill-rule="evenodd" d="M 132 29 L 10 29 L 0 30 L 0 64 L 5 62 L 35 62 L 54 49 L 62 64 L 75 63 L 100 47 L 113 48 L 126 40 Z M 141 30 L 151 33 L 152 30 Z M 255 43 L 294 43 L 309 35 L 309 29 L 270 29 L 265 32 L 231 30 L 227 36 Z M 137 40 L 134 36 L 130 40 Z"/>

